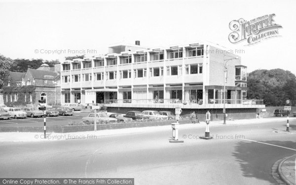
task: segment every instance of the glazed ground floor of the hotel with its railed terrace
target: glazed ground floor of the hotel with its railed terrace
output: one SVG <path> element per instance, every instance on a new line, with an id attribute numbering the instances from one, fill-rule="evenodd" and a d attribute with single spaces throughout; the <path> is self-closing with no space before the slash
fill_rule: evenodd
<path id="1" fill-rule="evenodd" d="M 247 100 L 241 87 L 170 86 L 139 88 L 62 89 L 61 103 L 105 104 L 107 107 L 222 109 L 264 108 L 262 100 Z"/>

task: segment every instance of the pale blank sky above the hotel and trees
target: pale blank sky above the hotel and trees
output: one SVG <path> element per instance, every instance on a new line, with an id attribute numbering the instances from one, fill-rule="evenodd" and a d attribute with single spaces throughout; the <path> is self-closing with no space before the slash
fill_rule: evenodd
<path id="1" fill-rule="evenodd" d="M 237 54 L 248 72 L 296 74 L 295 7 L 296 0 L 0 0 L 0 54 L 64 60 L 106 54 L 118 42 L 159 47 L 205 40 L 243 51 Z M 228 40 L 232 20 L 272 13 L 281 37 L 249 46 Z"/>

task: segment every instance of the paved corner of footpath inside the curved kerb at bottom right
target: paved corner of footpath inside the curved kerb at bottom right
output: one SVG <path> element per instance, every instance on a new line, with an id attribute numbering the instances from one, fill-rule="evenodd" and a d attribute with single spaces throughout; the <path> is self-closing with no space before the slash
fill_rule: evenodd
<path id="1" fill-rule="evenodd" d="M 281 179 L 287 185 L 296 185 L 296 155 L 286 157 L 278 166 Z"/>

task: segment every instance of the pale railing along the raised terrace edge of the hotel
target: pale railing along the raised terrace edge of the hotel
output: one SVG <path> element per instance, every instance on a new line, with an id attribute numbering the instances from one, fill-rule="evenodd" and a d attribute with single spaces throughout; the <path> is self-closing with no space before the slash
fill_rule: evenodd
<path id="1" fill-rule="evenodd" d="M 180 99 L 124 99 L 124 100 L 105 100 L 105 104 L 183 104 L 183 105 L 202 105 L 202 100 L 180 100 Z M 208 104 L 224 104 L 223 99 L 209 99 Z M 263 100 L 235 100 L 226 99 L 225 104 L 242 105 L 264 105 Z"/>

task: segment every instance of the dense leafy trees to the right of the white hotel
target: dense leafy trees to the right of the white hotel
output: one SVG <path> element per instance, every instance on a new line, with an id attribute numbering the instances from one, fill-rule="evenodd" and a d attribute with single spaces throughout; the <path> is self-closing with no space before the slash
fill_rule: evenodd
<path id="1" fill-rule="evenodd" d="M 287 99 L 296 103 L 296 76 L 282 69 L 256 70 L 248 77 L 249 99 L 263 99 L 266 106 L 284 106 Z"/>

